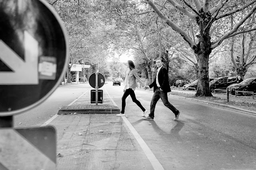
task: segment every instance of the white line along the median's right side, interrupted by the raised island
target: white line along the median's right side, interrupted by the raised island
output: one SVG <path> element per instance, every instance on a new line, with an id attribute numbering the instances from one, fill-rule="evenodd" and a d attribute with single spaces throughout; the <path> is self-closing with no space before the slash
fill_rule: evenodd
<path id="1" fill-rule="evenodd" d="M 106 93 L 108 94 L 107 90 L 105 89 Z M 116 102 L 110 97 L 108 94 L 108 97 L 114 104 L 114 106 L 117 106 Z M 143 152 L 146 154 L 148 160 L 152 164 L 154 170 L 164 170 L 163 166 L 160 164 L 160 162 L 157 160 L 156 156 L 154 153 L 150 150 L 146 142 L 142 139 L 140 134 L 136 131 L 136 129 L 132 126 L 132 124 L 128 121 L 128 119 L 125 116 L 121 116 L 122 119 L 124 120 L 125 124 L 128 126 L 130 131 L 132 132 L 132 135 L 135 137 L 135 139 L 138 141 L 140 147 L 142 148 Z"/>

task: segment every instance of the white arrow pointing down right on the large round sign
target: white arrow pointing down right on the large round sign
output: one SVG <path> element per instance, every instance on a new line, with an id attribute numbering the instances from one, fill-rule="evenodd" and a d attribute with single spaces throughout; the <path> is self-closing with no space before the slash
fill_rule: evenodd
<path id="1" fill-rule="evenodd" d="M 38 42 L 24 32 L 25 61 L 0 40 L 0 59 L 13 72 L 0 72 L 0 84 L 38 84 Z"/>

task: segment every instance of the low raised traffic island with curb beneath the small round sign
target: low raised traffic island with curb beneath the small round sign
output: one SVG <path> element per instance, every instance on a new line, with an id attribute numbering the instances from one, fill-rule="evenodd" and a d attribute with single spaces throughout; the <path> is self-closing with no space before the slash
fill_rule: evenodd
<path id="1" fill-rule="evenodd" d="M 121 113 L 117 106 L 111 105 L 74 105 L 64 106 L 58 111 L 58 115 L 70 113 Z"/>

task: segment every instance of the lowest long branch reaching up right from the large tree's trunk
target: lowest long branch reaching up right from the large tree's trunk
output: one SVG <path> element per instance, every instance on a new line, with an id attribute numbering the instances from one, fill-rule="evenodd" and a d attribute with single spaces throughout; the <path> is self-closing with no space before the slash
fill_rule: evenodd
<path id="1" fill-rule="evenodd" d="M 256 5 L 253 6 L 253 8 L 248 12 L 248 14 L 244 16 L 244 18 L 242 18 L 242 20 L 240 20 L 232 30 L 227 31 L 222 37 L 220 37 L 220 39 L 216 43 L 214 43 L 211 46 L 211 48 L 212 49 L 216 48 L 218 45 L 222 43 L 222 41 L 224 41 L 224 39 L 227 39 L 228 37 L 230 37 L 230 35 L 235 33 L 238 30 L 238 28 L 254 13 L 255 10 L 256 10 Z"/>

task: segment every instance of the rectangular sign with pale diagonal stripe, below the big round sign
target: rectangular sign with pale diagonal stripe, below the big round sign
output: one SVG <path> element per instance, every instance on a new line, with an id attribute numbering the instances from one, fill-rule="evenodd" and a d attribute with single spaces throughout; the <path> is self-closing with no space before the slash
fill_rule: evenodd
<path id="1" fill-rule="evenodd" d="M 0 129 L 1 170 L 56 169 L 54 127 Z"/>

